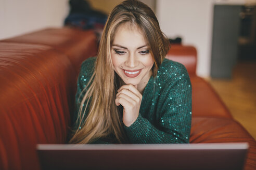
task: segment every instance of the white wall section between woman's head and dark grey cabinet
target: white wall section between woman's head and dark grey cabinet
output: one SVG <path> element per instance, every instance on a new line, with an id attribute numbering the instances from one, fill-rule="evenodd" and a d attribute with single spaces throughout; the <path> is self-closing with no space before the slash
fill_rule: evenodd
<path id="1" fill-rule="evenodd" d="M 170 38 L 181 36 L 184 45 L 197 48 L 197 75 L 210 75 L 214 0 L 160 0 L 157 18 Z"/>

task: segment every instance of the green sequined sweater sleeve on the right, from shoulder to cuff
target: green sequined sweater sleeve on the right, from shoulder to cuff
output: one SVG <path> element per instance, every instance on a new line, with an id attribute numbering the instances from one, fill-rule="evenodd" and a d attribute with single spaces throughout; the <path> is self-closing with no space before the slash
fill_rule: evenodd
<path id="1" fill-rule="evenodd" d="M 152 124 L 139 114 L 129 127 L 124 127 L 131 143 L 189 143 L 191 127 L 191 83 L 187 72 L 176 76 L 165 87 L 158 101 L 159 118 Z M 163 102 L 161 102 L 163 101 Z"/>

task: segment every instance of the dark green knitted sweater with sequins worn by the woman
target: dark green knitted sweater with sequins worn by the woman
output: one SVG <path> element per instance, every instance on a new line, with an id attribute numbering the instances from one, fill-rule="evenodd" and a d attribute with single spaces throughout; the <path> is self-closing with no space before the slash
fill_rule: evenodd
<path id="1" fill-rule="evenodd" d="M 80 93 L 93 74 L 95 61 L 96 57 L 82 63 L 75 96 L 74 120 L 85 94 L 80 96 Z M 76 123 L 73 126 L 78 127 Z M 129 140 L 126 143 L 189 143 L 191 83 L 186 68 L 181 63 L 164 59 L 157 76 L 151 76 L 145 87 L 137 120 L 129 127 L 123 126 Z M 100 139 L 94 144 L 110 144 L 110 141 Z"/>

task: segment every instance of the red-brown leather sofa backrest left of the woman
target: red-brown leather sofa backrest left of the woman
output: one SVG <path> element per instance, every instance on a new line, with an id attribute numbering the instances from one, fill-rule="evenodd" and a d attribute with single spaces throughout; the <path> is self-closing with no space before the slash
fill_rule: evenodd
<path id="1" fill-rule="evenodd" d="M 92 31 L 45 29 L 0 41 L 0 169 L 40 169 L 36 144 L 67 142 Z"/>

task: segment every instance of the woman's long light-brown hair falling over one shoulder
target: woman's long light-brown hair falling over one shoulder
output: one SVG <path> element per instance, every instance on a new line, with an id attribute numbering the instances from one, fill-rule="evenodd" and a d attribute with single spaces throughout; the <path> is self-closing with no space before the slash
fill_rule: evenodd
<path id="1" fill-rule="evenodd" d="M 160 30 L 155 13 L 147 5 L 139 1 L 124 1 L 116 6 L 106 22 L 94 73 L 88 82 L 89 87 L 86 86 L 76 120 L 79 124 L 78 129 L 75 130 L 70 143 L 88 144 L 109 135 L 114 136 L 118 143 L 125 143 L 121 109 L 114 103 L 122 80 L 114 72 L 110 50 L 114 33 L 124 23 L 136 25 L 148 41 L 154 61 L 153 77 L 157 75 L 157 69 L 169 50 L 169 41 Z M 85 89 L 82 93 L 84 91 Z M 85 116 L 86 110 L 88 110 L 87 116 Z"/>

